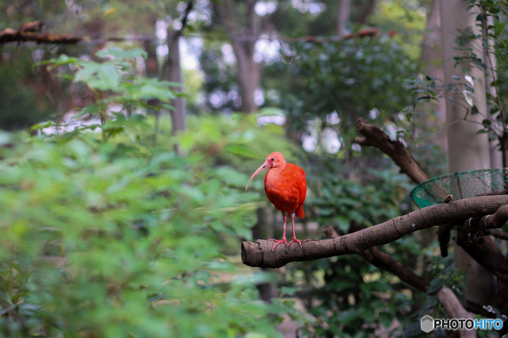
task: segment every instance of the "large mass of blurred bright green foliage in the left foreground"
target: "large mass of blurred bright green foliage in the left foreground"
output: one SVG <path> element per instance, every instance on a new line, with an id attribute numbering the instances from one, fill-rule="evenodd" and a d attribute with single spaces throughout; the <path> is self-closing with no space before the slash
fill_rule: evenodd
<path id="1" fill-rule="evenodd" d="M 49 63 L 76 65 L 71 78 L 108 89 L 108 102 L 138 106 L 166 85 L 122 80 L 119 65 L 138 52 L 107 53 L 116 56 L 111 63 Z M 279 317 L 269 313 L 312 321 L 290 301 L 258 301 L 253 283 L 266 275 L 235 279 L 221 253 L 223 236 L 250 237 L 256 194 L 243 191 L 248 176 L 213 166 L 199 146 L 187 157 L 149 146 L 146 129 L 129 128 L 142 115 L 111 116 L 101 104 L 84 111 L 105 114 L 108 137 L 79 123 L 41 137 L 0 134 L 0 334 L 273 337 Z M 220 151 L 238 156 L 235 143 L 242 141 L 226 140 Z"/>

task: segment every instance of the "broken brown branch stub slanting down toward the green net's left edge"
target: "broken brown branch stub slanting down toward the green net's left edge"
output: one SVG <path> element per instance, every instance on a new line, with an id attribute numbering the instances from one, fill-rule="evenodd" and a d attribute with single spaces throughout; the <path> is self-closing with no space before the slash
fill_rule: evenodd
<path id="1" fill-rule="evenodd" d="M 400 172 L 408 175 L 415 183 L 421 183 L 430 177 L 412 158 L 409 151 L 401 141 L 392 141 L 390 137 L 379 127 L 358 118 L 355 122 L 355 129 L 364 137 L 357 137 L 355 142 L 364 146 L 375 146 L 380 151 L 390 156 L 400 167 Z M 443 196 L 444 197 L 444 196 Z"/>

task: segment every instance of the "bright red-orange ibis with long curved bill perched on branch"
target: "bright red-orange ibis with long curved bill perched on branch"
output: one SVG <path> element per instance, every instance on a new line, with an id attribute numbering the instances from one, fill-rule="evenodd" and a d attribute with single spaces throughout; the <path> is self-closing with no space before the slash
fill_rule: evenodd
<path id="1" fill-rule="evenodd" d="M 305 195 L 307 195 L 307 183 L 305 182 L 305 171 L 299 166 L 293 163 L 286 163 L 284 156 L 279 152 L 273 152 L 268 155 L 265 163 L 256 170 L 255 173 L 250 176 L 249 182 L 245 187 L 249 186 L 252 178 L 256 177 L 257 174 L 263 170 L 268 169 L 265 176 L 265 192 L 268 200 L 272 202 L 275 209 L 282 212 L 282 218 L 284 219 L 284 232 L 282 239 L 269 239 L 269 241 L 275 241 L 275 247 L 280 243 L 284 243 L 286 246 L 290 246 L 291 243 L 297 242 L 302 246 L 299 239 L 296 239 L 295 235 L 295 216 L 305 218 L 303 212 L 303 202 L 305 201 Z M 288 243 L 285 238 L 285 224 L 288 220 L 288 216 L 291 217 L 291 226 L 293 227 L 293 240 Z M 304 241 L 310 241 L 309 239 Z"/>

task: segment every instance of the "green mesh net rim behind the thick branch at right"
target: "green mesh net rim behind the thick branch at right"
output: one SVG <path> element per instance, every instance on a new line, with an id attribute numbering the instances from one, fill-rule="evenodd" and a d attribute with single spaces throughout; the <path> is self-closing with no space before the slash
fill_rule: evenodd
<path id="1" fill-rule="evenodd" d="M 508 168 L 482 169 L 431 178 L 415 186 L 409 196 L 423 208 L 443 203 L 450 194 L 454 200 L 460 200 L 507 188 Z"/>

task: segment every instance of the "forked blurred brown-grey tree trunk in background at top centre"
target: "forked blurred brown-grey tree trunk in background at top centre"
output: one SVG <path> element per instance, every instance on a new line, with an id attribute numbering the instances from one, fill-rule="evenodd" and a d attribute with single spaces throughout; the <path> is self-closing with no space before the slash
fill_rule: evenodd
<path id="1" fill-rule="evenodd" d="M 216 2 L 215 6 L 236 56 L 237 79 L 242 98 L 240 110 L 248 113 L 258 110 L 254 101 L 254 91 L 260 84 L 261 66 L 254 61 L 253 56 L 261 33 L 261 21 L 254 10 L 257 0 L 247 0 L 245 3 L 247 20 L 243 26 L 240 25 L 233 1 L 223 0 Z"/>

